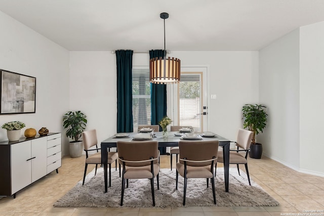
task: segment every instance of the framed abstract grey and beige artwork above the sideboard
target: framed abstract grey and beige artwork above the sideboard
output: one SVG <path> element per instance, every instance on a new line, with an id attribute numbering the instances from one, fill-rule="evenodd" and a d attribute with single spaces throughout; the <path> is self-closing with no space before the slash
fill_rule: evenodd
<path id="1" fill-rule="evenodd" d="M 35 113 L 36 77 L 0 70 L 0 114 Z"/>

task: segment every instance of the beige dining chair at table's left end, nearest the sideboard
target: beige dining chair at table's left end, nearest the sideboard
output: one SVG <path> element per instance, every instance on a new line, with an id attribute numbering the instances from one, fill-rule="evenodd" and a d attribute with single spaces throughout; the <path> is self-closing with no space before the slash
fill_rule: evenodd
<path id="1" fill-rule="evenodd" d="M 101 164 L 101 152 L 98 152 L 100 148 L 98 148 L 98 139 L 97 139 L 97 131 L 96 129 L 92 129 L 90 131 L 84 131 L 82 133 L 84 150 L 86 151 L 86 166 L 85 166 L 85 174 L 83 177 L 83 183 L 85 184 L 85 179 L 87 175 L 88 164 L 96 164 L 95 175 L 97 174 L 98 164 Z M 91 147 L 96 146 L 95 149 L 90 149 Z M 90 151 L 97 151 L 94 154 L 89 154 Z M 111 163 L 113 161 L 117 162 L 118 154 L 117 152 L 108 152 L 108 164 L 109 164 L 109 187 L 111 186 Z M 116 163 L 117 167 L 117 163 Z M 120 169 L 119 169 L 120 170 Z"/>

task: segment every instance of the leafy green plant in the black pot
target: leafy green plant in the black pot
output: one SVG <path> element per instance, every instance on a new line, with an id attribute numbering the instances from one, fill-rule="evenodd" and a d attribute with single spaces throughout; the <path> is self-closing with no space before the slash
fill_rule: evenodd
<path id="1" fill-rule="evenodd" d="M 266 106 L 260 104 L 246 104 L 242 107 L 244 128 L 253 132 L 249 156 L 260 159 L 262 155 L 262 144 L 256 143 L 255 136 L 262 133 L 267 123 Z"/>

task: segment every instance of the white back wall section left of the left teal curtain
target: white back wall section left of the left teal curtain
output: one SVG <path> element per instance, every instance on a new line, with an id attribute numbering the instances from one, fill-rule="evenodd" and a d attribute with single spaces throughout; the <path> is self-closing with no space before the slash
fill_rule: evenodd
<path id="1" fill-rule="evenodd" d="M 111 52 L 70 52 L 70 110 L 87 115 L 98 141 L 116 133 L 116 59 Z"/>

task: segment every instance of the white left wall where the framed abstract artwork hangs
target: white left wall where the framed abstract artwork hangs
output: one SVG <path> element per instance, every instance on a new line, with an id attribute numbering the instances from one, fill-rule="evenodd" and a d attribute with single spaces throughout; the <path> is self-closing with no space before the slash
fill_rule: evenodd
<path id="1" fill-rule="evenodd" d="M 0 26 L 0 68 L 36 77 L 36 113 L 0 115 L 0 125 L 22 121 L 22 136 L 29 127 L 62 132 L 69 108 L 69 52 L 2 12 Z M 0 128 L 0 141 L 5 140 L 7 131 Z"/>

